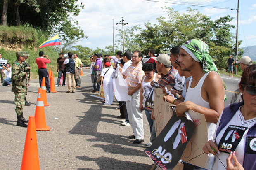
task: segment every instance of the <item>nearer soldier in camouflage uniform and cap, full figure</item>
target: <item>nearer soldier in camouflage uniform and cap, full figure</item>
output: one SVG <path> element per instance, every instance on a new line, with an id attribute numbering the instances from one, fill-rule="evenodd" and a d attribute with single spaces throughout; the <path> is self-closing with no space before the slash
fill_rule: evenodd
<path id="1" fill-rule="evenodd" d="M 12 92 L 14 92 L 15 98 L 14 102 L 16 104 L 15 112 L 17 114 L 17 124 L 16 126 L 27 127 L 24 122 L 28 122 L 23 117 L 23 107 L 24 107 L 24 96 L 26 93 L 26 83 L 27 83 L 27 73 L 24 72 L 24 65 L 22 64 L 28 54 L 24 52 L 16 52 L 17 60 L 12 64 Z"/>

